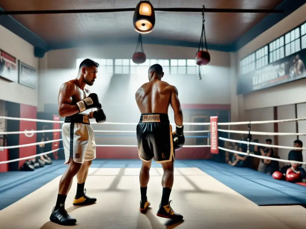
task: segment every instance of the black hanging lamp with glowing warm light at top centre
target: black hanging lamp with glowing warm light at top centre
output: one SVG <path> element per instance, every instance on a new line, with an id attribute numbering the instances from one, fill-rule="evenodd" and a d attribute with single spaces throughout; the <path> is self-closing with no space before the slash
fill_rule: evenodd
<path id="1" fill-rule="evenodd" d="M 155 12 L 149 1 L 140 1 L 133 16 L 134 28 L 138 33 L 149 33 L 155 25 Z"/>

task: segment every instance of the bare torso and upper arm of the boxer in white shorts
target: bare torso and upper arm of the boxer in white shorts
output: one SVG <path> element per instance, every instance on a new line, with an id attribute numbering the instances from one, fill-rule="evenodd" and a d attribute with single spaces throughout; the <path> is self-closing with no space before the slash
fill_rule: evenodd
<path id="1" fill-rule="evenodd" d="M 58 114 L 67 117 L 76 114 L 76 103 L 88 97 L 91 93 L 87 88 L 81 89 L 77 79 L 69 80 L 61 85 L 58 93 Z M 85 84 L 84 84 L 85 86 Z"/>

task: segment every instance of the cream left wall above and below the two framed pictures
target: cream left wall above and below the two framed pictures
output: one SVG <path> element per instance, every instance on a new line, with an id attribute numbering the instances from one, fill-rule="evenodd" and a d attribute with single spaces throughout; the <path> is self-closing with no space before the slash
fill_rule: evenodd
<path id="1" fill-rule="evenodd" d="M 0 25 L 0 49 L 38 70 L 38 58 L 34 56 L 34 46 L 24 41 Z M 0 79 L 0 100 L 37 106 L 36 89 Z"/>

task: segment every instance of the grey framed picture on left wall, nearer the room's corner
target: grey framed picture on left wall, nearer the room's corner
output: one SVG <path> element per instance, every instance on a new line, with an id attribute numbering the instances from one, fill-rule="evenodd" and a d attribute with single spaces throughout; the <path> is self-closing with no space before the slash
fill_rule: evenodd
<path id="1" fill-rule="evenodd" d="M 34 67 L 22 63 L 18 60 L 19 77 L 18 83 L 30 88 L 35 89 L 37 84 L 37 72 Z"/>

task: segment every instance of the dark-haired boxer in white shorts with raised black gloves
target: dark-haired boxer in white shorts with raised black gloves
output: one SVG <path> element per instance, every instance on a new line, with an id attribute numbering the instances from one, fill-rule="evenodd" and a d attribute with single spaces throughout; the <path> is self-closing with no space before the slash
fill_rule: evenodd
<path id="1" fill-rule="evenodd" d="M 76 223 L 76 219 L 65 210 L 65 200 L 75 175 L 77 189 L 73 205 L 88 205 L 97 200 L 86 195 L 84 185 L 91 160 L 96 157 L 94 131 L 89 119 L 95 118 L 98 123 L 106 120 L 98 95 L 85 87 L 94 84 L 98 67 L 99 64 L 93 60 L 83 60 L 77 78 L 65 82 L 59 90 L 58 114 L 65 117 L 62 141 L 68 167 L 60 180 L 58 198 L 50 216 L 50 221 L 56 224 L 69 226 Z M 88 115 L 83 113 L 90 109 L 95 111 Z"/>

